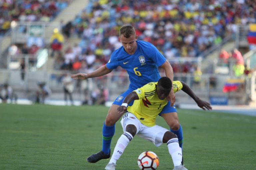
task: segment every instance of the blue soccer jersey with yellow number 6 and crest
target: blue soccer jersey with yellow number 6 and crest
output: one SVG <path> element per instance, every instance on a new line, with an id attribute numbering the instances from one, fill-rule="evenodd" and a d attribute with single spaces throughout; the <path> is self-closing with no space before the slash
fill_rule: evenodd
<path id="1" fill-rule="evenodd" d="M 161 77 L 157 67 L 165 61 L 165 57 L 151 43 L 136 41 L 137 48 L 134 54 L 128 54 L 123 46 L 115 50 L 109 62 L 106 64 L 108 69 L 116 69 L 121 66 L 129 74 L 129 89 L 137 89 L 149 82 L 156 82 Z"/>

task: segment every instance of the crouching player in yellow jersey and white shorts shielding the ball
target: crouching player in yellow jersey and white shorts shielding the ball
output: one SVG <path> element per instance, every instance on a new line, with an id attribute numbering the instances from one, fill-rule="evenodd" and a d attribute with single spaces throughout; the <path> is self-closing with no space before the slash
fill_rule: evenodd
<path id="1" fill-rule="evenodd" d="M 181 163 L 182 149 L 179 146 L 177 135 L 155 124 L 157 115 L 168 103 L 166 97 L 171 89 L 171 80 L 168 77 L 162 77 L 158 82 L 148 83 L 125 97 L 123 104 L 117 110 L 120 114 L 125 113 L 126 110 L 128 111 L 121 120 L 124 133 L 118 139 L 113 155 L 105 170 L 115 170 L 116 161 L 135 134 L 152 141 L 155 146 L 167 143 L 174 164 L 173 170 L 187 170 Z M 174 93 L 180 89 L 192 97 L 200 108 L 204 110 L 212 109 L 209 103 L 199 99 L 185 83 L 173 81 Z M 133 105 L 127 109 L 128 104 L 133 100 Z"/>

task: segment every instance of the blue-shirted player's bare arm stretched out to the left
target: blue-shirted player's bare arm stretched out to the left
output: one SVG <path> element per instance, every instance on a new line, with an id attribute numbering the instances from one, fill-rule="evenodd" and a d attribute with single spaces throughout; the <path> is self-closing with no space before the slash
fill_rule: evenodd
<path id="1" fill-rule="evenodd" d="M 108 69 L 106 67 L 106 65 L 101 66 L 100 68 L 98 68 L 97 70 L 94 70 L 91 73 L 77 73 L 77 74 L 71 74 L 71 78 L 73 79 L 81 79 L 81 80 L 85 80 L 87 78 L 92 78 L 92 77 L 100 77 L 103 75 L 106 75 L 108 73 L 110 73 L 112 70 Z"/>

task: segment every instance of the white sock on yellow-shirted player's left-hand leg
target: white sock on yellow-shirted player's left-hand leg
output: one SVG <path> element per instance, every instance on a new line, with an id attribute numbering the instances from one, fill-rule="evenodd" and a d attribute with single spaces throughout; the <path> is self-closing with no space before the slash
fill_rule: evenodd
<path id="1" fill-rule="evenodd" d="M 120 158 L 122 153 L 124 152 L 124 149 L 128 145 L 128 143 L 133 139 L 133 136 L 131 133 L 125 131 L 120 138 L 118 139 L 114 152 L 112 154 L 112 157 L 109 161 L 109 163 L 114 163 L 116 164 L 116 161 Z"/>

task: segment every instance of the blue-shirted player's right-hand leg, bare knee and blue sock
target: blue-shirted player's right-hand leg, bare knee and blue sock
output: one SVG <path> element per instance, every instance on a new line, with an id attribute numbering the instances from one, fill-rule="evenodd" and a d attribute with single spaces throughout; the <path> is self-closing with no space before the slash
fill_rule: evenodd
<path id="1" fill-rule="evenodd" d="M 161 116 L 164 118 L 165 122 L 170 127 L 170 131 L 177 135 L 178 140 L 179 140 L 179 145 L 182 148 L 183 132 L 182 132 L 182 127 L 179 124 L 177 112 L 163 113 L 163 114 L 161 114 Z"/>

